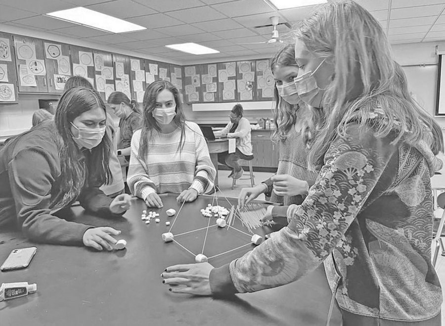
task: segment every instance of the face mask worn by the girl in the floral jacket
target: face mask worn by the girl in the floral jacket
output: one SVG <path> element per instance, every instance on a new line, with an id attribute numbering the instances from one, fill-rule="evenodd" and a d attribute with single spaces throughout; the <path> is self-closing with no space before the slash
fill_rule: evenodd
<path id="1" fill-rule="evenodd" d="M 303 102 L 314 108 L 321 107 L 324 89 L 318 87 L 317 81 L 313 77 L 313 74 L 315 74 L 325 60 L 326 59 L 323 59 L 323 61 L 320 62 L 318 67 L 315 68 L 313 72 L 308 71 L 307 73 L 294 78 L 298 96 Z"/>

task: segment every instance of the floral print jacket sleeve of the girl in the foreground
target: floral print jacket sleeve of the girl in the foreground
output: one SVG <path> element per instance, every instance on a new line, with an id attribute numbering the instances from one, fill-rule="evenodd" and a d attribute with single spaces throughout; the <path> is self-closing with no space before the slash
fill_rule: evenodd
<path id="1" fill-rule="evenodd" d="M 354 262 L 356 249 L 345 233 L 397 151 L 390 139 L 372 132 L 359 136 L 356 125 L 350 125 L 347 134 L 328 149 L 315 184 L 289 225 L 230 263 L 238 292 L 293 282 L 314 270 L 336 246 L 348 253 L 348 263 Z"/>

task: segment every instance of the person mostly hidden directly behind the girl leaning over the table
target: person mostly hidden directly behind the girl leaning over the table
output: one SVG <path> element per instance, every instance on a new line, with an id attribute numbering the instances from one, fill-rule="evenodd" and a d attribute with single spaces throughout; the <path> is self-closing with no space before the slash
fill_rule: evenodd
<path id="1" fill-rule="evenodd" d="M 85 87 L 94 89 L 93 85 L 86 79 L 81 76 L 73 76 L 68 78 L 65 83 L 65 87 L 63 88 L 63 92 L 65 93 L 68 89 L 74 87 Z M 112 181 L 109 184 L 103 184 L 100 186 L 100 190 L 107 196 L 111 198 L 116 197 L 117 195 L 124 193 L 124 177 L 122 175 L 121 163 L 117 158 L 117 135 L 116 130 L 114 128 L 113 118 L 107 113 L 107 123 L 106 123 L 106 133 L 108 138 L 111 139 L 112 142 L 112 151 L 110 152 L 110 160 L 108 161 L 108 166 L 110 168 Z"/>

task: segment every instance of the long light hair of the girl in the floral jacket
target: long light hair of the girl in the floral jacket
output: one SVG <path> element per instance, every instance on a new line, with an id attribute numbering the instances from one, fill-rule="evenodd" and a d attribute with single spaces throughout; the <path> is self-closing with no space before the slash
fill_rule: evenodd
<path id="1" fill-rule="evenodd" d="M 323 157 L 336 135 L 345 136 L 347 124 L 359 123 L 365 132 L 367 117 L 379 108 L 384 123 L 373 125 L 376 137 L 396 131 L 393 143 L 415 145 L 426 128 L 432 130 L 431 149 L 444 151 L 438 124 L 412 98 L 406 78 L 393 60 L 387 37 L 378 21 L 351 0 L 329 2 L 320 7 L 296 30 L 314 55 L 334 64 L 332 82 L 322 100 L 325 122 L 313 142 L 311 167 L 323 164 Z"/>

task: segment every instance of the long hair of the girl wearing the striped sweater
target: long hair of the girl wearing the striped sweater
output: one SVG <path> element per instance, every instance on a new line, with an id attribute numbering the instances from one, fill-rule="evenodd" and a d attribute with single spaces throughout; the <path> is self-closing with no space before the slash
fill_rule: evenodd
<path id="1" fill-rule="evenodd" d="M 179 128 L 181 128 L 181 138 L 179 141 L 178 151 L 180 151 L 182 149 L 182 146 L 184 145 L 185 116 L 182 111 L 182 104 L 181 104 L 181 99 L 179 97 L 178 88 L 176 88 L 176 86 L 173 85 L 171 82 L 167 81 L 152 82 L 145 89 L 145 94 L 142 101 L 144 122 L 142 125 L 142 130 L 140 134 L 140 143 L 139 143 L 138 157 L 140 160 L 144 160 L 145 156 L 147 155 L 148 138 L 149 137 L 151 138 L 153 129 L 156 129 L 158 132 L 161 132 L 158 123 L 153 118 L 153 110 L 156 109 L 156 99 L 158 97 L 158 94 L 164 89 L 167 89 L 172 92 L 176 102 L 176 116 L 173 119 L 173 121 Z"/>

